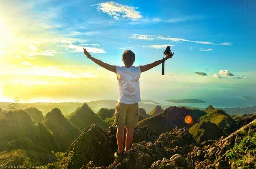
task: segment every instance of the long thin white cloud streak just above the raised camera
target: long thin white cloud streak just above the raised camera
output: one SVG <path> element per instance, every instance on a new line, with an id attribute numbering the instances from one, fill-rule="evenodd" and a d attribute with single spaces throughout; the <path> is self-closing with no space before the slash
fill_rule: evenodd
<path id="1" fill-rule="evenodd" d="M 197 43 L 197 44 L 207 44 L 207 45 L 229 45 L 229 46 L 232 45 L 229 42 L 215 44 L 215 43 L 207 42 L 207 41 L 195 41 L 195 40 L 188 40 L 188 39 L 183 39 L 183 38 L 172 38 L 170 36 L 162 36 L 162 35 L 132 34 L 129 38 L 131 38 L 131 39 L 144 39 L 144 40 L 161 39 L 161 40 L 170 40 L 170 41 L 173 41 L 173 42 L 187 41 L 187 42 L 194 42 L 194 43 Z"/>

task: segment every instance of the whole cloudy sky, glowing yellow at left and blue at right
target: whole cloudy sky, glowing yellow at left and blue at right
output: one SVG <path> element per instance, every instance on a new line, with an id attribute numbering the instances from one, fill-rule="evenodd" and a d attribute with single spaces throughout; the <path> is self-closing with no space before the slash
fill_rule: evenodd
<path id="1" fill-rule="evenodd" d="M 32 76 L 48 77 L 40 84 L 50 83 L 50 77 L 97 81 L 109 76 L 116 85 L 114 75 L 88 60 L 82 47 L 92 56 L 114 65 L 122 65 L 122 53 L 130 49 L 136 56 L 134 65 L 143 65 L 160 60 L 162 51 L 169 45 L 175 55 L 165 63 L 166 75 L 161 75 L 161 66 L 155 67 L 144 73 L 142 84 L 174 83 L 191 87 L 201 84 L 207 88 L 248 89 L 248 94 L 253 93 L 256 84 L 254 0 L 6 0 L 1 3 L 0 35 L 4 38 L 0 40 L 0 64 L 1 75 L 6 79 L 8 74 L 15 74 L 36 85 L 38 79 Z M 10 83 L 8 80 L 5 85 Z M 9 95 L 5 85 L 2 100 L 15 95 Z M 146 90 L 142 92 L 149 97 Z M 112 92 L 103 98 L 115 98 L 115 95 Z"/>

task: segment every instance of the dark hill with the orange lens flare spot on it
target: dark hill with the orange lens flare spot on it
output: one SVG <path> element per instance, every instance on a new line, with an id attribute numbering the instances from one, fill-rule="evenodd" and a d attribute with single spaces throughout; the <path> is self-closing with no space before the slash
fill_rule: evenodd
<path id="1" fill-rule="evenodd" d="M 185 123 L 185 117 L 191 116 L 192 123 Z M 138 122 L 139 127 L 148 125 L 152 130 L 155 130 L 159 135 L 169 132 L 176 126 L 178 128 L 190 128 L 198 120 L 194 117 L 192 111 L 186 107 L 171 106 L 153 117 L 146 118 Z"/>

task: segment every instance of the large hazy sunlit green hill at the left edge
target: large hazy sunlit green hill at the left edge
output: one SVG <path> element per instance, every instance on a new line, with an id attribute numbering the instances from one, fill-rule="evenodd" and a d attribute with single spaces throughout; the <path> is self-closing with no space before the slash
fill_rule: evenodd
<path id="1" fill-rule="evenodd" d="M 0 119 L 0 150 L 8 141 L 20 137 L 29 138 L 37 145 L 48 151 L 59 151 L 59 144 L 55 135 L 41 122 L 34 122 L 23 110 L 6 113 Z"/>

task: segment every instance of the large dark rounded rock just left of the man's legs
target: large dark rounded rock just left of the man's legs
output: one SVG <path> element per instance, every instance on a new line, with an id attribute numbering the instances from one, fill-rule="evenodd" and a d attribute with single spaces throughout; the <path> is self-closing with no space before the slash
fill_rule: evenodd
<path id="1" fill-rule="evenodd" d="M 116 141 L 111 142 L 106 131 L 96 124 L 84 130 L 66 152 L 60 168 L 74 169 L 94 161 L 96 166 L 107 167 L 114 161 Z"/>

